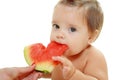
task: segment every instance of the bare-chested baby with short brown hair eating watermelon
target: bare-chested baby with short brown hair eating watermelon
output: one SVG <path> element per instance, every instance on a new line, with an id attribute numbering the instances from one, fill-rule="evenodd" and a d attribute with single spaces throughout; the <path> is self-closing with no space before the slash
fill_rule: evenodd
<path id="1" fill-rule="evenodd" d="M 60 0 L 55 6 L 50 40 L 69 49 L 51 73 L 52 80 L 108 80 L 103 54 L 92 46 L 103 25 L 97 0 Z"/>

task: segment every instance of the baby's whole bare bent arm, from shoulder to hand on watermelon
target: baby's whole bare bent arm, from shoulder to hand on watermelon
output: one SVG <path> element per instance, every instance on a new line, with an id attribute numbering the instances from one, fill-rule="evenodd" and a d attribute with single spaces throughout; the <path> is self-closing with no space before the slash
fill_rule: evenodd
<path id="1" fill-rule="evenodd" d="M 53 59 L 63 64 L 63 77 L 67 80 L 108 80 L 107 66 L 103 55 L 98 52 L 98 54 L 90 54 L 89 57 L 84 72 L 76 69 L 67 58 L 54 57 Z"/>

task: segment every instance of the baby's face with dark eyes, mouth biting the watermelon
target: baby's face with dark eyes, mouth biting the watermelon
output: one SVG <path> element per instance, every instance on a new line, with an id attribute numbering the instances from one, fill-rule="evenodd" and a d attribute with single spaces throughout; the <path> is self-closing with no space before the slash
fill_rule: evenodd
<path id="1" fill-rule="evenodd" d="M 55 7 L 50 39 L 66 44 L 66 56 L 75 55 L 86 48 L 89 31 L 82 18 L 82 10 L 59 4 Z"/>

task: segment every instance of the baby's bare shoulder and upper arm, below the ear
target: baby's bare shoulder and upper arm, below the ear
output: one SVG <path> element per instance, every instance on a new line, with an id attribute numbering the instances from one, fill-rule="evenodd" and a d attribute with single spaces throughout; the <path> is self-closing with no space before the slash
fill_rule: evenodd
<path id="1" fill-rule="evenodd" d="M 107 64 L 103 53 L 93 46 L 89 47 L 87 52 L 88 59 L 84 72 L 100 80 L 107 80 Z"/>

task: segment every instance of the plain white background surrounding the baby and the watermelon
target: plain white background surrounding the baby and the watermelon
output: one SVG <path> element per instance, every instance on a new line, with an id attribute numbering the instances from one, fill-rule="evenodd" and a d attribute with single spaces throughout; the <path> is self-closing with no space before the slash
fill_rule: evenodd
<path id="1" fill-rule="evenodd" d="M 24 46 L 49 43 L 52 13 L 57 1 L 0 0 L 0 68 L 27 66 L 23 56 Z M 105 19 L 94 45 L 106 57 L 109 80 L 120 80 L 119 0 L 99 1 Z"/>

